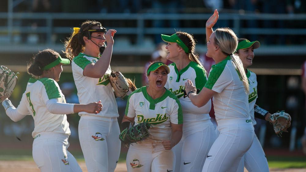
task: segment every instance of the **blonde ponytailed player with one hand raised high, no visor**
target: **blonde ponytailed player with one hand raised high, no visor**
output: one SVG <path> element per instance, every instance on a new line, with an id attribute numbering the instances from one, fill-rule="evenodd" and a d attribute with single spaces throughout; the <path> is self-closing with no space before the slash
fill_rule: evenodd
<path id="1" fill-rule="evenodd" d="M 197 95 L 196 87 L 188 80 L 186 92 L 191 102 L 198 107 L 213 97 L 216 121 L 220 135 L 208 152 L 203 166 L 207 171 L 236 171 L 241 157 L 251 147 L 254 128 L 248 107 L 248 79 L 236 51 L 238 38 L 229 28 L 212 30 L 218 20 L 218 11 L 206 22 L 208 57 L 215 60 L 208 80 Z"/>

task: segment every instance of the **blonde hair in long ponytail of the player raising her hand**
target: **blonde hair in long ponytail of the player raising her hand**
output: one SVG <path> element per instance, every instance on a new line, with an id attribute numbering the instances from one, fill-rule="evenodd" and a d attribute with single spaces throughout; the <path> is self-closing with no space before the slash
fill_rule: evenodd
<path id="1" fill-rule="evenodd" d="M 248 78 L 245 75 L 243 64 L 237 54 L 233 54 L 236 51 L 238 45 L 238 38 L 236 34 L 230 28 L 218 28 L 215 31 L 215 45 L 218 45 L 220 50 L 225 55 L 230 55 L 233 65 L 237 69 L 244 85 L 244 90 L 249 93 Z"/>

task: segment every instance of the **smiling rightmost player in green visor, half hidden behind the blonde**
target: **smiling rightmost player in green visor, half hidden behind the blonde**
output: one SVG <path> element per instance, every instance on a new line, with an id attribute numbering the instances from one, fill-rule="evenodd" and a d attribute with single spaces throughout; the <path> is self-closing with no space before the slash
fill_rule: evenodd
<path id="1" fill-rule="evenodd" d="M 268 111 L 261 113 L 261 110 L 259 110 L 261 108 L 255 104 L 256 99 L 258 97 L 256 74 L 246 69 L 248 66 L 252 65 L 252 60 L 254 58 L 254 49 L 259 47 L 260 43 L 258 41 L 250 42 L 248 39 L 239 39 L 238 46 L 236 49 L 237 55 L 240 57 L 243 63 L 244 71 L 250 83 L 250 93 L 248 95 L 248 103 L 249 103 L 250 116 L 253 125 L 256 125 L 254 116 L 256 118 L 267 120 L 268 117 L 271 115 L 270 113 L 268 113 Z M 254 112 L 256 113 L 254 114 Z M 242 157 L 237 172 L 243 172 L 244 166 L 249 172 L 269 171 L 267 158 L 255 133 L 254 133 L 253 144 Z"/>

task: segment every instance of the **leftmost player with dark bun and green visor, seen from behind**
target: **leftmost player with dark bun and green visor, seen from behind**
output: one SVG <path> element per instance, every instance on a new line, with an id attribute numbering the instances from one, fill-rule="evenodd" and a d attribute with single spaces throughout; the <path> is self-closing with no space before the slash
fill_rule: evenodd
<path id="1" fill-rule="evenodd" d="M 101 103 L 66 103 L 57 81 L 63 71 L 62 64 L 69 63 L 68 59 L 61 58 L 57 52 L 43 50 L 36 54 L 28 68 L 28 73 L 37 79 L 31 78 L 28 81 L 19 106 L 15 108 L 5 96 L 1 97 L 6 114 L 14 122 L 32 115 L 35 125 L 32 153 L 41 171 L 82 171 L 76 159 L 67 151 L 70 129 L 65 114 L 80 111 L 99 113 L 102 109 Z"/>

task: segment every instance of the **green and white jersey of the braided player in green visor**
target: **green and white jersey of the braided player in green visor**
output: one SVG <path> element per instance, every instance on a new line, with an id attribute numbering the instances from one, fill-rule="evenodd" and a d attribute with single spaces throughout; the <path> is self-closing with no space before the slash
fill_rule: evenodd
<path id="1" fill-rule="evenodd" d="M 196 122 L 210 119 L 209 111 L 211 102 L 209 101 L 203 107 L 196 107 L 188 97 L 184 98 L 185 82 L 189 79 L 195 84 L 196 88 L 202 90 L 207 77 L 204 68 L 196 62 L 190 62 L 184 69 L 177 70 L 176 64 L 169 65 L 170 73 L 165 87 L 175 94 L 181 102 L 184 122 Z"/>

